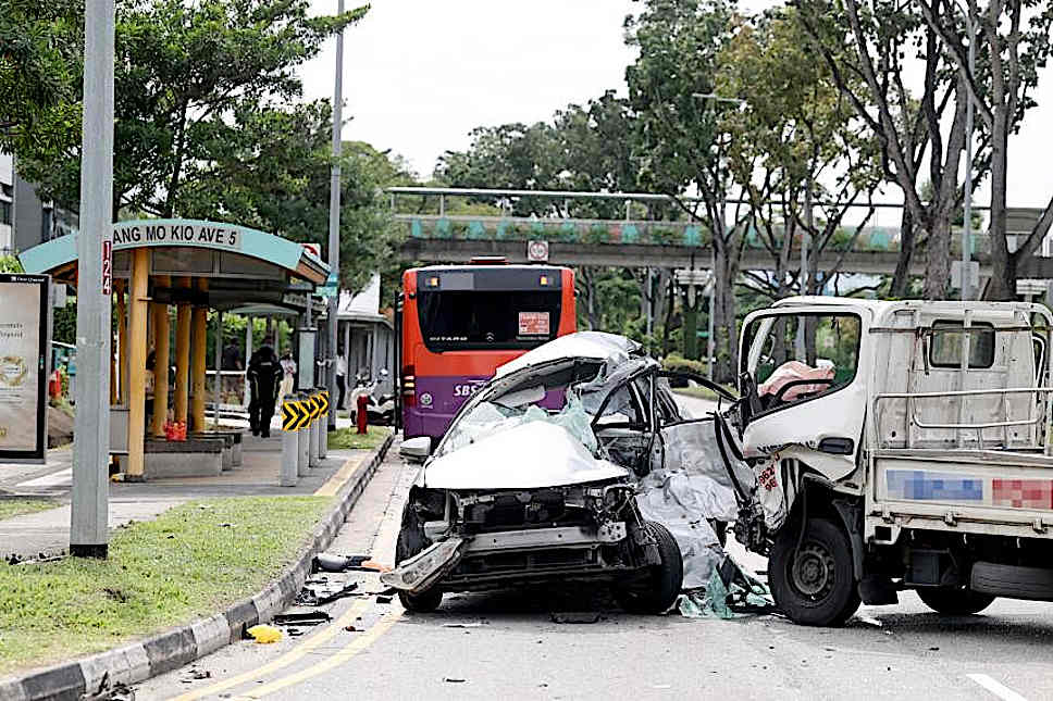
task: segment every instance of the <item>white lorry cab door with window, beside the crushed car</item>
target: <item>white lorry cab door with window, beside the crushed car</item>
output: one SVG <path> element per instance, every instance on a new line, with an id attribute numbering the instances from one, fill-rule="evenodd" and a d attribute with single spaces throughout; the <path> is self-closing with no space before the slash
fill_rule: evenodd
<path id="1" fill-rule="evenodd" d="M 750 403 L 742 435 L 747 456 L 779 452 L 829 479 L 855 468 L 867 413 L 865 314 L 808 306 L 746 317 L 740 390 Z"/>

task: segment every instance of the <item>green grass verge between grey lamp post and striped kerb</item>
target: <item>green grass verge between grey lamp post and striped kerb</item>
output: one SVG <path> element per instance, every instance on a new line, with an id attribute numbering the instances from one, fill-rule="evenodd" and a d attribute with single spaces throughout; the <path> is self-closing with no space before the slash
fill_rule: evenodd
<path id="1" fill-rule="evenodd" d="M 191 501 L 119 529 L 108 560 L 0 564 L 0 675 L 113 648 L 252 596 L 293 561 L 331 501 Z"/>

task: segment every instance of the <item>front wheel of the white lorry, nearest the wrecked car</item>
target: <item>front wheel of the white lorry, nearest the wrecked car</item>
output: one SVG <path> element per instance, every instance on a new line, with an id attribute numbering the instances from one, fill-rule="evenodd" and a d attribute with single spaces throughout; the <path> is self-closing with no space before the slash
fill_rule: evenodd
<path id="1" fill-rule="evenodd" d="M 778 533 L 768 559 L 768 584 L 779 609 L 801 625 L 840 626 L 859 608 L 852 543 L 827 518 L 809 518 L 803 539 L 792 526 Z"/>

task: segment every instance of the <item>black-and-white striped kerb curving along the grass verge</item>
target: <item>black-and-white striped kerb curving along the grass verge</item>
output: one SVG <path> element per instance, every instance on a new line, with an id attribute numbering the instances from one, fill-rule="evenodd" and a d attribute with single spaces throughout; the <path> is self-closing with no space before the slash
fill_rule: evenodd
<path id="1" fill-rule="evenodd" d="M 86 692 L 97 692 L 103 683 L 136 684 L 240 640 L 247 628 L 270 621 L 293 603 L 310 574 L 314 555 L 333 542 L 394 440 L 394 434 L 389 435 L 370 458 L 360 463 L 336 492 L 336 503 L 314 527 L 311 542 L 255 597 L 235 602 L 212 617 L 114 650 L 0 679 L 0 701 L 76 699 Z"/>

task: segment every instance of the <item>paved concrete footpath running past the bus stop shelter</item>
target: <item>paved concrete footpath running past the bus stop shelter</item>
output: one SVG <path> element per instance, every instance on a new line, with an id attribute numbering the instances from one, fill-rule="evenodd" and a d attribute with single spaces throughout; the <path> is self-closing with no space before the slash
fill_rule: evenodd
<path id="1" fill-rule="evenodd" d="M 243 436 L 240 467 L 213 477 L 181 477 L 145 483 L 110 483 L 109 525 L 111 530 L 131 521 L 148 521 L 164 511 L 195 499 L 212 497 L 259 497 L 333 495 L 354 473 L 370 450 L 329 451 L 296 487 L 278 486 L 282 431 L 270 438 Z M 346 468 L 345 468 L 346 467 Z M 344 470 L 342 470 L 344 468 Z M 0 465 L 0 490 L 9 495 L 49 497 L 60 505 L 47 511 L 0 521 L 0 556 L 37 558 L 67 551 L 70 546 L 70 490 L 72 452 L 49 451 L 46 465 Z"/>

